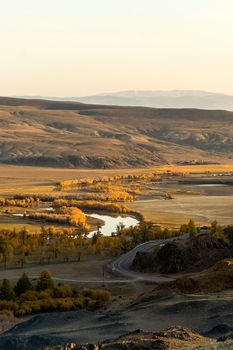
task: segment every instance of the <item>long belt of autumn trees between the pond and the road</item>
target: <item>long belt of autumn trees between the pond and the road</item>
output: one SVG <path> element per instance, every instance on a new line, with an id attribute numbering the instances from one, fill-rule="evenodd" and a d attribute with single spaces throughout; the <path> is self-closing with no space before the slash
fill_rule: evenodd
<path id="1" fill-rule="evenodd" d="M 208 233 L 233 242 L 232 226 L 221 227 L 217 222 L 205 229 Z M 161 228 L 148 221 L 141 221 L 134 227 L 117 227 L 112 237 L 103 236 L 98 231 L 88 238 L 82 227 L 56 228 L 42 227 L 41 232 L 32 234 L 26 229 L 0 231 L 0 266 L 2 268 L 20 267 L 29 264 L 50 264 L 74 262 L 88 255 L 119 255 L 133 249 L 136 245 L 155 239 L 178 236 L 182 233 L 193 235 L 203 233 L 190 220 L 181 229 Z"/>

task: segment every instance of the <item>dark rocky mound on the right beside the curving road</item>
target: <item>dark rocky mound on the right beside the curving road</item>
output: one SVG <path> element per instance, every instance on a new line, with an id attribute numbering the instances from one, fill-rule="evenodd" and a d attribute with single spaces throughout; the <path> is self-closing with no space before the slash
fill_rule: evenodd
<path id="1" fill-rule="evenodd" d="M 232 247 L 223 239 L 200 235 L 188 240 L 176 240 L 150 253 L 138 252 L 133 268 L 142 272 L 173 274 L 201 271 L 232 256 Z"/>

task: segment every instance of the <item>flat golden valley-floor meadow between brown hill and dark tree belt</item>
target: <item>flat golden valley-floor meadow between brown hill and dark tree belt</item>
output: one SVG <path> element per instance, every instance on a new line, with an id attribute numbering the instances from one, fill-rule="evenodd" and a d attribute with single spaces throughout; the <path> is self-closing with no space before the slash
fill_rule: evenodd
<path id="1" fill-rule="evenodd" d="M 92 207 L 96 209 L 96 203 L 100 201 L 103 210 L 107 208 L 106 203 L 110 200 L 107 204 L 109 207 L 114 201 L 115 206 L 119 205 L 119 208 L 124 205 L 129 211 L 140 213 L 146 220 L 168 227 L 178 227 L 190 218 L 201 225 L 208 224 L 214 219 L 228 224 L 232 219 L 233 187 L 198 187 L 192 181 L 219 179 L 224 182 L 232 179 L 230 176 L 232 174 L 232 164 L 167 165 L 148 169 L 115 170 L 0 165 L 0 197 L 12 198 L 18 195 L 24 198 L 34 195 L 43 198 L 47 196 L 51 197 L 50 200 L 48 199 L 48 202 L 51 202 L 56 198 L 70 199 L 73 196 L 79 201 L 81 207 L 89 210 Z M 95 179 L 96 183 L 93 184 L 91 179 Z M 191 184 L 188 186 L 180 184 L 180 181 L 186 179 L 191 180 Z M 85 184 L 86 180 L 88 181 Z M 60 188 L 61 183 L 68 185 Z M 123 194 L 123 199 L 117 198 L 116 193 L 119 195 L 119 192 L 121 197 Z M 131 198 L 130 201 L 127 194 Z M 108 200 L 106 197 L 109 197 Z M 26 211 L 30 212 L 34 209 L 27 208 Z M 22 208 L 7 207 L 6 212 L 0 207 L 0 211 L 4 211 L 0 216 L 0 228 L 26 226 L 30 230 L 40 229 L 40 223 L 29 217 L 10 215 L 12 212 L 21 213 Z M 127 209 L 125 211 L 127 212 Z M 89 224 L 94 227 L 98 222 L 89 222 Z M 56 225 L 61 227 L 59 223 Z"/>

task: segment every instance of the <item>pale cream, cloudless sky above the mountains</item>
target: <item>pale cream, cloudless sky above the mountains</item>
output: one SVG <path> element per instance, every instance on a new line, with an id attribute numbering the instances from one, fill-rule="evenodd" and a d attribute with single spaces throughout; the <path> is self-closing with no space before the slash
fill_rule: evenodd
<path id="1" fill-rule="evenodd" d="M 0 95 L 233 95 L 232 0 L 0 0 Z"/>

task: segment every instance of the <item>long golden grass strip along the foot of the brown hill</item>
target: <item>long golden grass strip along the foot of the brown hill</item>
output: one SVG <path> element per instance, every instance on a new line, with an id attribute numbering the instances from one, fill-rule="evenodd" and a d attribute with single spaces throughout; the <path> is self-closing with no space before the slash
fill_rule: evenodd
<path id="1" fill-rule="evenodd" d="M 85 177 L 127 175 L 166 171 L 184 174 L 208 174 L 233 172 L 233 164 L 220 165 L 166 165 L 135 169 L 63 169 L 0 164 L 0 195 L 15 193 L 49 193 L 59 180 Z"/>

